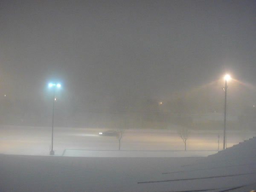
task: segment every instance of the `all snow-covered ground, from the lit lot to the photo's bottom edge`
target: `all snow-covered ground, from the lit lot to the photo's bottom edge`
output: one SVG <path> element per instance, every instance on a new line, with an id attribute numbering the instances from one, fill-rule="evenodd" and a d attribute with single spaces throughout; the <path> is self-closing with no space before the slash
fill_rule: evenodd
<path id="1" fill-rule="evenodd" d="M 101 137 L 99 131 L 106 130 L 55 128 L 55 156 L 49 156 L 51 128 L 1 126 L 0 191 L 256 189 L 256 138 L 247 140 L 253 132 L 228 131 L 229 148 L 218 152 L 218 131 L 192 131 L 187 151 L 176 131 L 126 130 L 120 151 L 116 137 Z"/>

